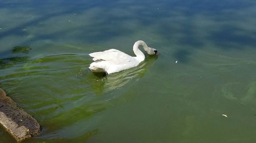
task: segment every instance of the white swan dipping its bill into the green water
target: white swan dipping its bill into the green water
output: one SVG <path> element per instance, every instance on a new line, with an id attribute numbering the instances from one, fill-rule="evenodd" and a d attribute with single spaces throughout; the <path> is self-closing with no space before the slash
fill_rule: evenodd
<path id="1" fill-rule="evenodd" d="M 117 49 L 90 53 L 89 55 L 93 57 L 94 62 L 90 64 L 89 69 L 92 72 L 111 74 L 136 67 L 145 60 L 145 55 L 139 50 L 139 46 L 142 46 L 149 55 L 158 54 L 156 49 L 148 47 L 144 41 L 139 40 L 133 45 L 133 51 L 136 56 L 128 55 Z"/>

